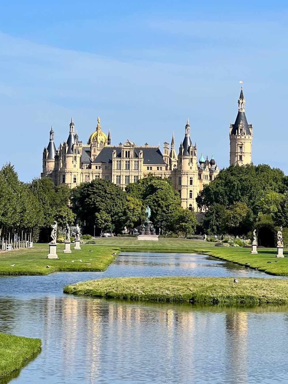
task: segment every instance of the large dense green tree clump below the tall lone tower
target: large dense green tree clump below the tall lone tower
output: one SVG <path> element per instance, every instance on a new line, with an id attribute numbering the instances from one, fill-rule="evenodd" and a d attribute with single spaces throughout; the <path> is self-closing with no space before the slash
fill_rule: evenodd
<path id="1" fill-rule="evenodd" d="M 221 170 L 196 198 L 200 209 L 208 209 L 205 232 L 242 235 L 265 222 L 288 227 L 287 186 L 283 171 L 265 164 Z"/>

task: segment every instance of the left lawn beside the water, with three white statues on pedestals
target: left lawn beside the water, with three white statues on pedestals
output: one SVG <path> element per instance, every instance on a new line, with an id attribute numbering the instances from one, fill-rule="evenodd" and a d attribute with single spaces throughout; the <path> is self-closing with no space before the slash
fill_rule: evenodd
<path id="1" fill-rule="evenodd" d="M 48 275 L 48 273 L 57 271 L 105 271 L 116 257 L 112 253 L 119 253 L 119 248 L 111 246 L 81 245 L 81 250 L 74 250 L 71 245 L 72 253 L 63 253 L 63 250 L 63 244 L 57 245 L 58 259 L 47 259 L 48 244 L 36 244 L 34 248 L 0 252 L 0 275 Z M 49 268 L 46 268 L 47 265 Z"/>

